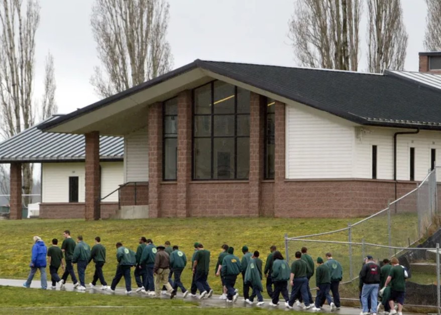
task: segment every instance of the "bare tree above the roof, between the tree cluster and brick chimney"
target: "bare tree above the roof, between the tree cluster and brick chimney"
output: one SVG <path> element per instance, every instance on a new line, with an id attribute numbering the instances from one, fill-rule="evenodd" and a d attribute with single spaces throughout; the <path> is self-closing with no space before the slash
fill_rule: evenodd
<path id="1" fill-rule="evenodd" d="M 401 0 L 368 0 L 368 71 L 403 70 L 407 32 Z"/>

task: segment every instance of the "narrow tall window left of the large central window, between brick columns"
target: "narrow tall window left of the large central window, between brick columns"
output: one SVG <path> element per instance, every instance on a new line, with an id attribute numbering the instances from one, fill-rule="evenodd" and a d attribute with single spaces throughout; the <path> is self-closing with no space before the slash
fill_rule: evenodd
<path id="1" fill-rule="evenodd" d="M 178 140 L 178 99 L 164 102 L 163 115 L 163 179 L 176 181 L 177 140 Z"/>

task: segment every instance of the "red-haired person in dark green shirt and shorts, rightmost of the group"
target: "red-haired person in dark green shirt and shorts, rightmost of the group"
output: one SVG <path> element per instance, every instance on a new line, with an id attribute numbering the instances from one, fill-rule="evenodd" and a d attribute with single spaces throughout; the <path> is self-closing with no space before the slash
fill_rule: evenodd
<path id="1" fill-rule="evenodd" d="M 403 314 L 404 297 L 406 294 L 406 271 L 399 265 L 398 259 L 393 257 L 390 260 L 392 268 L 390 269 L 389 276 L 384 283 L 387 287 L 390 283 L 390 297 L 389 297 L 389 307 L 390 315 L 394 315 L 397 311 L 394 309 L 394 301 L 398 303 L 398 315 Z"/>

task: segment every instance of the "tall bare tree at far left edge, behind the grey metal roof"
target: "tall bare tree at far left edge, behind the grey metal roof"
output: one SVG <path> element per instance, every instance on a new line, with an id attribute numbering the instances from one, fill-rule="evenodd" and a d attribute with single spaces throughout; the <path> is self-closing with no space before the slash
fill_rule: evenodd
<path id="1" fill-rule="evenodd" d="M 0 3 L 0 107 L 1 129 L 13 136 L 34 123 L 32 102 L 35 33 L 40 22 L 36 0 L 3 0 Z M 32 190 L 32 166 L 23 164 L 24 193 Z"/>

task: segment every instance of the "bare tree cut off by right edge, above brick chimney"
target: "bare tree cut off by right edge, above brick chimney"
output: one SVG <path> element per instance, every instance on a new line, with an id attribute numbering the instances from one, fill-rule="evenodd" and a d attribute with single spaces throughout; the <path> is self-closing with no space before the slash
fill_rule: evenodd
<path id="1" fill-rule="evenodd" d="M 427 4 L 424 48 L 427 51 L 441 50 L 441 1 L 425 0 Z"/>

